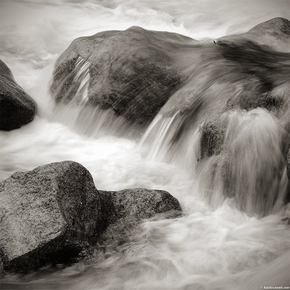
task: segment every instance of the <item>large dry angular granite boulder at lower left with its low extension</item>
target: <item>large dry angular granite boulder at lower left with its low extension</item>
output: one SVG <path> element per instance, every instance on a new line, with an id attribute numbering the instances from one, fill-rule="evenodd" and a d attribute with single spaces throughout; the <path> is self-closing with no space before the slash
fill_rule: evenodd
<path id="1" fill-rule="evenodd" d="M 126 219 L 133 226 L 156 213 L 181 211 L 165 191 L 98 191 L 87 169 L 73 161 L 16 172 L 0 189 L 0 253 L 6 271 L 87 258 L 108 224 Z M 119 229 L 114 230 L 112 236 Z"/>

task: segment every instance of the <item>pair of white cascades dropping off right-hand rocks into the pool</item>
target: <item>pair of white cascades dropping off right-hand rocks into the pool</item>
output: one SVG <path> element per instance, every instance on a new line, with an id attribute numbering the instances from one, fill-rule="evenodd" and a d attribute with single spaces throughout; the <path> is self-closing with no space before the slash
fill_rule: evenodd
<path id="1" fill-rule="evenodd" d="M 225 112 L 221 116 L 226 124 L 221 152 L 209 158 L 200 156 L 203 123 L 193 124 L 175 139 L 182 121 L 179 112 L 155 117 L 140 142 L 148 159 L 175 160 L 196 174 L 197 188 L 213 208 L 230 197 L 249 214 L 264 216 L 280 210 L 289 183 L 282 154 L 282 137 L 287 132 L 274 115 L 259 107 Z"/>

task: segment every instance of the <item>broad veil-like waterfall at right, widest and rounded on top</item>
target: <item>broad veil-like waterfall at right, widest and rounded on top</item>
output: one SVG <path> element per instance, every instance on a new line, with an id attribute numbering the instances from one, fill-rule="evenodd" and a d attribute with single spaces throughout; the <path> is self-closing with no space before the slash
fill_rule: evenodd
<path id="1" fill-rule="evenodd" d="M 210 186 L 203 192 L 214 207 L 228 196 L 247 213 L 269 214 L 276 201 L 281 207 L 287 193 L 288 180 L 281 179 L 285 132 L 278 119 L 262 108 L 235 110 L 223 117 L 228 125 L 222 151 L 204 164 L 208 172 L 199 178 Z"/>

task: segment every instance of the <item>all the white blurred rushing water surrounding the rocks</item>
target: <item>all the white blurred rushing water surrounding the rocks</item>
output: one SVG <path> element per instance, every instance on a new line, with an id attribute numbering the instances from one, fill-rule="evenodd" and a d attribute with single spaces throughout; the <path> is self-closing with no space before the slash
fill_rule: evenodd
<path id="1" fill-rule="evenodd" d="M 139 25 L 218 38 L 273 17 L 289 19 L 289 2 L 1 1 L 1 59 L 38 104 L 33 122 L 1 131 L 1 180 L 15 171 L 74 160 L 90 171 L 97 189 L 163 189 L 184 211 L 182 218 L 143 222 L 105 260 L 96 254 L 90 263 L 9 274 L 2 289 L 289 286 L 289 226 L 280 211 L 289 190 L 281 152 L 287 132 L 274 115 L 255 108 L 222 116 L 228 124 L 229 186 L 222 181 L 228 160 L 212 156 L 198 164 L 202 115 L 173 142 L 188 122 L 176 106 L 186 86 L 146 130 L 125 127 L 110 110 L 86 108 L 90 75 L 84 59 L 76 64 L 74 102 L 56 106 L 48 91 L 55 60 L 76 37 Z M 198 75 L 192 77 L 196 81 Z M 200 87 L 209 88 L 205 77 L 202 81 Z M 230 90 L 226 83 L 210 87 L 206 101 L 225 90 Z"/>

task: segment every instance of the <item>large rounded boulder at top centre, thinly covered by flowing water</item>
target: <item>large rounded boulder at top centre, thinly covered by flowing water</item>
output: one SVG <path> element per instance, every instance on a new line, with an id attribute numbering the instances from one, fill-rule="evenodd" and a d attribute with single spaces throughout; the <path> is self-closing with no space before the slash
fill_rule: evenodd
<path id="1" fill-rule="evenodd" d="M 193 41 L 135 26 L 77 38 L 57 60 L 51 92 L 58 102 L 77 97 L 83 68 L 89 77 L 86 104 L 146 124 L 182 84 L 178 48 Z"/>

